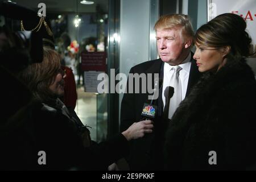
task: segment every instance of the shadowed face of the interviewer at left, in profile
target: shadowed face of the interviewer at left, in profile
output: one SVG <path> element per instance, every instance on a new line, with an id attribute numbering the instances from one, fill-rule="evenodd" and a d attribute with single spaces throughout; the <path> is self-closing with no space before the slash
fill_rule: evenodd
<path id="1" fill-rule="evenodd" d="M 49 86 L 49 89 L 56 97 L 61 97 L 64 95 L 65 81 L 63 79 L 63 76 L 64 72 L 61 69 L 61 71 L 59 71 L 59 73 L 57 73 L 57 75 L 55 76 L 55 79 L 53 80 L 52 84 Z"/>

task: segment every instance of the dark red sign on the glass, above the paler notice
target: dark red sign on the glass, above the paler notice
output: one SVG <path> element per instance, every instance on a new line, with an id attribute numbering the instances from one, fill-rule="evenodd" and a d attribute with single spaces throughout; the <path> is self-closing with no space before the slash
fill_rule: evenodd
<path id="1" fill-rule="evenodd" d="M 81 54 L 82 71 L 106 71 L 106 52 L 85 52 Z"/>

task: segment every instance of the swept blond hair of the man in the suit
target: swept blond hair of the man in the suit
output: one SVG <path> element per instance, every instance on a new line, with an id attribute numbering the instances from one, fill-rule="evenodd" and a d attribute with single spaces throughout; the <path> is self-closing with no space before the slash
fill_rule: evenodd
<path id="1" fill-rule="evenodd" d="M 161 16 L 155 23 L 155 31 L 166 29 L 180 29 L 181 35 L 193 41 L 194 31 L 188 15 L 168 14 Z"/>

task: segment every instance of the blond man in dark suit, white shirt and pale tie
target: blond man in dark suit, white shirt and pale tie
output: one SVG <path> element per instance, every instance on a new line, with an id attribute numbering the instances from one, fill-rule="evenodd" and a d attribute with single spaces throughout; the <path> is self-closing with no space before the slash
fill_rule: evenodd
<path id="1" fill-rule="evenodd" d="M 162 148 L 166 127 L 171 122 L 170 119 L 179 103 L 188 95 L 200 77 L 190 50 L 194 34 L 188 16 L 181 14 L 161 16 L 155 24 L 155 31 L 160 59 L 135 65 L 130 70 L 130 73 L 139 75 L 158 73 L 160 80 L 163 80 L 163 84 L 159 85 L 159 97 L 155 100 L 158 110 L 154 119 L 154 133 L 135 140 L 130 145 L 130 156 L 126 160 L 131 170 L 163 169 Z M 128 82 L 127 93 L 124 94 L 121 104 L 121 131 L 126 130 L 132 121 L 140 121 L 143 118 L 141 113 L 144 103 L 150 102 L 148 90 L 147 93 L 129 93 Z M 174 88 L 172 97 L 165 91 L 170 88 L 169 86 Z M 142 90 L 141 82 L 139 89 Z"/>

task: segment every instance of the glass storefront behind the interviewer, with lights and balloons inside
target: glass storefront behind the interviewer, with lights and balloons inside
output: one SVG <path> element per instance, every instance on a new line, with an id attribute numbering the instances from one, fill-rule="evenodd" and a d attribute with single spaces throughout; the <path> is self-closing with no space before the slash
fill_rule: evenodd
<path id="1" fill-rule="evenodd" d="M 28 0 L 15 1 L 20 6 L 38 12 L 38 3 Z M 71 68 L 75 78 L 75 90 L 69 97 L 84 125 L 91 127 L 91 137 L 100 142 L 106 139 L 108 130 L 108 97 L 97 93 L 97 75 L 106 73 L 108 49 L 108 0 L 46 1 L 46 18 L 51 25 L 55 49 L 61 56 L 61 64 Z M 20 22 L 13 23 L 20 30 Z M 67 89 L 71 85 L 67 82 Z"/>

